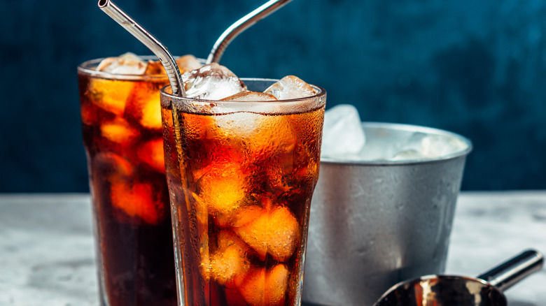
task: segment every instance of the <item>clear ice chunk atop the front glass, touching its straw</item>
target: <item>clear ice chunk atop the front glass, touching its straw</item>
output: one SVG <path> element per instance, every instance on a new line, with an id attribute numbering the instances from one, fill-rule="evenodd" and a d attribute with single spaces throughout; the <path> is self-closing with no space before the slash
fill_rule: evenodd
<path id="1" fill-rule="evenodd" d="M 188 98 L 219 100 L 246 90 L 235 73 L 217 63 L 188 71 L 182 78 Z"/>

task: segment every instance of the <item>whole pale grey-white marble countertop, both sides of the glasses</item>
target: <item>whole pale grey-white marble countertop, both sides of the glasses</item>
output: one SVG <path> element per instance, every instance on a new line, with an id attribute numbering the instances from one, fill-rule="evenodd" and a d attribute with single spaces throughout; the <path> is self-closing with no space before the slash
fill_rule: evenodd
<path id="1" fill-rule="evenodd" d="M 97 306 L 87 194 L 0 194 L 0 305 Z M 476 276 L 524 249 L 546 252 L 546 191 L 463 192 L 447 274 Z M 546 269 L 505 292 L 546 306 Z"/>

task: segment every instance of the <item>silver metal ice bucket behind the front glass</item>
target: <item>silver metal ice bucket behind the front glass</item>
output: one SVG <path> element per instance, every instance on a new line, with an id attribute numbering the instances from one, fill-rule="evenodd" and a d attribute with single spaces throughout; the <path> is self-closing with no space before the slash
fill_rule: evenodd
<path id="1" fill-rule="evenodd" d="M 302 300 L 373 305 L 394 284 L 444 272 L 470 140 L 423 126 L 364 123 L 366 147 L 415 132 L 461 141 L 434 159 L 321 159 L 311 203 Z"/>

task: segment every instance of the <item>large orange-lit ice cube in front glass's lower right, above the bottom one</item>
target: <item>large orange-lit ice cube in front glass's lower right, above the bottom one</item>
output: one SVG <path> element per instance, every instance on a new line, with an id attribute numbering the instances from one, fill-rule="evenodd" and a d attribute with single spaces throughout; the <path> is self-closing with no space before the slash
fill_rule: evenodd
<path id="1" fill-rule="evenodd" d="M 287 261 L 297 247 L 300 225 L 287 207 L 280 206 L 263 210 L 260 217 L 235 228 L 235 233 L 261 258 L 269 253 L 276 261 Z"/>

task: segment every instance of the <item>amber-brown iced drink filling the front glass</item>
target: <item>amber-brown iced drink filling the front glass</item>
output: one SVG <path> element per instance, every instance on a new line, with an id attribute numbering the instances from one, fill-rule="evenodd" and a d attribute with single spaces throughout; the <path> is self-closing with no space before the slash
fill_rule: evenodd
<path id="1" fill-rule="evenodd" d="M 171 111 L 162 111 L 168 122 Z M 323 112 L 246 118 L 181 112 L 180 128 L 167 126 L 186 305 L 299 302 Z M 257 126 L 237 131 L 241 120 Z"/>

